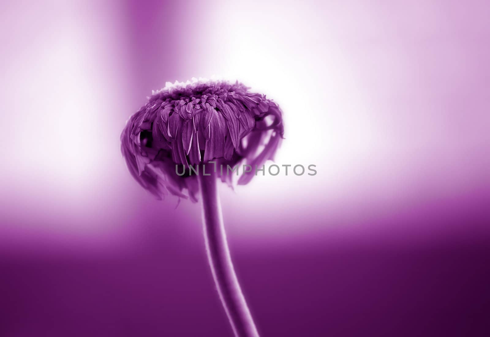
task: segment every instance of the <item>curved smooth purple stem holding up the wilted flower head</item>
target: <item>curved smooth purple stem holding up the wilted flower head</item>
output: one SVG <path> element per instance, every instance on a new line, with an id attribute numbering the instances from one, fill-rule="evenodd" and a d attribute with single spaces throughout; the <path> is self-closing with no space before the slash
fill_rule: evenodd
<path id="1" fill-rule="evenodd" d="M 204 168 L 206 175 L 204 176 L 204 172 L 201 172 L 198 179 L 202 196 L 204 239 L 213 278 L 235 336 L 258 337 L 259 334 L 246 305 L 235 270 L 233 270 L 221 214 L 215 166 L 206 163 L 201 167 L 203 171 Z"/>

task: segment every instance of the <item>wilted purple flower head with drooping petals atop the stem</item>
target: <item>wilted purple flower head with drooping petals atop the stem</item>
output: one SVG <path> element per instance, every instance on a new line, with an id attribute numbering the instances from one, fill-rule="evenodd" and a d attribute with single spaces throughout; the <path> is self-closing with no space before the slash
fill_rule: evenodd
<path id="1" fill-rule="evenodd" d="M 127 167 L 145 189 L 163 199 L 169 193 L 197 201 L 196 175 L 176 173 L 201 162 L 261 167 L 283 138 L 278 105 L 238 81 L 196 80 L 167 84 L 126 122 L 121 151 Z M 218 175 L 232 183 L 226 172 Z M 254 170 L 242 173 L 246 184 Z"/>

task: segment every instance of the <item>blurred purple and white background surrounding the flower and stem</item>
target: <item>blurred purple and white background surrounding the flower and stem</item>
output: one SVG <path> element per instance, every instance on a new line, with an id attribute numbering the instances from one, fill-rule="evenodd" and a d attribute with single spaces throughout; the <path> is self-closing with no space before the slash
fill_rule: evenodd
<path id="1" fill-rule="evenodd" d="M 490 335 L 486 1 L 2 1 L 0 336 L 231 336 L 200 207 L 119 150 L 166 81 L 284 112 L 276 163 L 221 186 L 262 336 Z"/>

